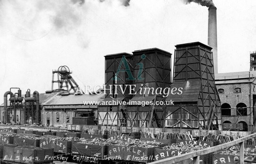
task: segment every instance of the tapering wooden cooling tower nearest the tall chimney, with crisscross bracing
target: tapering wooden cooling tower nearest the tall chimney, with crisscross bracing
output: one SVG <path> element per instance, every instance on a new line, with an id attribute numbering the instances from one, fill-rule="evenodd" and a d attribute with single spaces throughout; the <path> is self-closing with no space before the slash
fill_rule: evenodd
<path id="1" fill-rule="evenodd" d="M 214 81 L 211 47 L 200 42 L 176 45 L 174 78 L 171 89 L 182 87 L 183 93 L 171 95 L 166 101 L 165 127 L 219 129 L 221 124 L 220 100 Z M 215 104 L 211 112 L 211 104 Z M 208 119 L 211 117 L 212 119 Z"/>

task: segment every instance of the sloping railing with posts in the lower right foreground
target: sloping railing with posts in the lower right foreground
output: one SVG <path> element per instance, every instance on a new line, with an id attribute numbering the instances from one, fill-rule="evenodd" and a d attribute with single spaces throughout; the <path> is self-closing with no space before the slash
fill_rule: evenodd
<path id="1" fill-rule="evenodd" d="M 213 153 L 215 151 L 219 151 L 219 150 L 234 146 L 236 144 L 239 144 L 239 161 L 240 161 L 240 164 L 243 164 L 244 163 L 244 141 L 246 141 L 248 139 L 251 139 L 251 138 L 254 138 L 254 137 L 256 137 L 256 133 L 250 134 L 248 136 L 244 136 L 243 138 L 239 138 L 239 139 L 236 139 L 236 140 L 228 142 L 228 143 L 223 143 L 221 145 L 217 145 L 217 146 L 214 146 L 214 147 L 209 147 L 207 149 L 202 149 L 202 150 L 199 150 L 199 151 L 192 151 L 192 152 L 185 153 L 185 154 L 182 154 L 182 155 L 178 155 L 178 156 L 175 156 L 175 157 L 166 158 L 166 159 L 163 159 L 163 160 L 151 162 L 150 164 L 175 164 L 176 162 L 181 162 L 181 161 L 184 161 L 184 160 L 188 160 L 190 158 L 193 158 L 193 164 L 199 164 L 200 155 Z"/>

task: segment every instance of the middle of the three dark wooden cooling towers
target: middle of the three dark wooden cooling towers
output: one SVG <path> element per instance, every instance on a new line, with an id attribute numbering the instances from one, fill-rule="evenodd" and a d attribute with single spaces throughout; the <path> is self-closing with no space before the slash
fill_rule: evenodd
<path id="1" fill-rule="evenodd" d="M 163 51 L 158 48 L 143 49 L 132 52 L 133 53 L 133 77 L 136 80 L 133 82 L 135 85 L 135 92 L 137 94 L 131 99 L 132 102 L 146 102 L 154 101 L 154 94 L 150 92 L 142 92 L 140 88 L 165 88 L 171 85 L 171 53 Z M 141 66 L 143 68 L 141 70 Z M 141 73 L 141 74 L 140 74 Z M 141 75 L 141 76 L 139 76 Z M 141 78 L 139 78 L 141 77 Z M 152 91 L 152 89 L 151 89 Z M 156 101 L 164 101 L 163 95 L 156 95 Z M 163 127 L 165 118 L 165 106 L 154 106 L 152 124 L 150 117 L 152 113 L 152 105 L 128 105 L 127 118 L 128 126 L 134 127 Z"/>

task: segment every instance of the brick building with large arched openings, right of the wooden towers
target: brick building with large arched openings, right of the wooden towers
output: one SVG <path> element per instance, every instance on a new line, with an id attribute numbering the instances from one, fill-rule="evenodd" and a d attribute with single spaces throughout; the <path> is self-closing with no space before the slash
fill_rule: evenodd
<path id="1" fill-rule="evenodd" d="M 222 123 L 243 124 L 244 131 L 255 130 L 255 79 L 256 71 L 215 75 L 215 84 L 221 100 Z"/>

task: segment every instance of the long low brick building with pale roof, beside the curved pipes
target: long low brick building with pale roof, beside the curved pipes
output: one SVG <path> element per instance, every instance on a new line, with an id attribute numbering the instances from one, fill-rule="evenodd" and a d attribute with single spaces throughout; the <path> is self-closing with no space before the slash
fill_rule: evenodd
<path id="1" fill-rule="evenodd" d="M 24 97 L 24 95 L 22 95 Z M 84 105 L 83 101 L 99 101 L 103 100 L 103 94 L 63 94 L 63 92 L 47 92 L 39 94 L 39 104 L 41 111 L 41 124 L 44 126 L 66 127 L 72 124 L 72 117 L 92 116 L 98 118 L 98 106 Z M 7 102 L 9 106 L 9 100 Z M 24 104 L 24 102 L 23 102 Z M 24 106 L 23 106 L 24 108 Z M 16 110 L 16 119 L 19 124 L 28 124 L 28 120 L 24 118 L 24 109 Z M 0 121 L 3 120 L 4 104 L 0 105 Z M 14 113 L 13 111 L 11 113 Z M 11 114 L 10 121 L 13 124 L 13 116 Z"/>

